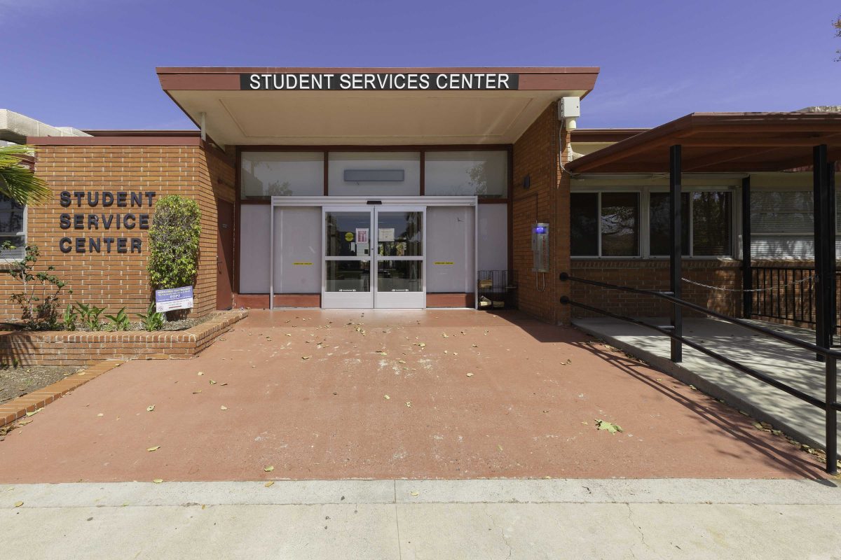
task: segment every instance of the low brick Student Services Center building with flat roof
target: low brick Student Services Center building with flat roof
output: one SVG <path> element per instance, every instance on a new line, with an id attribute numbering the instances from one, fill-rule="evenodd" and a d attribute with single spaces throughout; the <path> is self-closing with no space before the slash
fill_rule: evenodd
<path id="1" fill-rule="evenodd" d="M 570 288 L 561 272 L 669 284 L 664 143 L 685 143 L 683 133 L 697 141 L 683 175 L 685 276 L 736 289 L 751 269 L 742 259 L 746 215 L 748 262 L 811 265 L 812 146 L 828 144 L 830 160 L 841 159 L 841 115 L 827 111 L 574 128 L 597 68 L 157 74 L 197 132 L 27 139 L 55 191 L 25 211 L 27 242 L 66 277 L 74 299 L 114 311 L 139 312 L 151 300 L 154 203 L 179 193 L 203 212 L 197 315 L 231 306 L 473 307 L 482 288 L 501 294 L 516 284 L 521 310 L 569 322 L 561 296 L 600 296 Z M 727 133 L 711 134 L 722 119 Z M 692 284 L 684 296 L 734 314 L 744 306 L 737 291 Z M 601 303 L 663 311 L 619 297 Z"/>

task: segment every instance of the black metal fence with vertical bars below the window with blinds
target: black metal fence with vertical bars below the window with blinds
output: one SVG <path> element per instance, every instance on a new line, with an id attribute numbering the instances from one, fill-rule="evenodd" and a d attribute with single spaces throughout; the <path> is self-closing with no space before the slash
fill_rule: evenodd
<path id="1" fill-rule="evenodd" d="M 745 296 L 753 298 L 752 317 L 816 324 L 814 267 L 751 266 L 750 272 L 754 290 Z M 836 272 L 836 278 L 841 279 L 841 271 Z M 841 288 L 838 280 L 835 285 Z M 841 297 L 836 296 L 836 306 L 841 307 Z M 841 309 L 835 317 L 839 316 Z"/>

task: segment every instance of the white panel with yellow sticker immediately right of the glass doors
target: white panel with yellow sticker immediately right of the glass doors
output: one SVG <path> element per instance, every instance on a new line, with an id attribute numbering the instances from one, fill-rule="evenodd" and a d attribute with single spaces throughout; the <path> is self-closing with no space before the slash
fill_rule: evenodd
<path id="1" fill-rule="evenodd" d="M 472 207 L 426 209 L 428 293 L 473 291 L 473 231 Z"/>

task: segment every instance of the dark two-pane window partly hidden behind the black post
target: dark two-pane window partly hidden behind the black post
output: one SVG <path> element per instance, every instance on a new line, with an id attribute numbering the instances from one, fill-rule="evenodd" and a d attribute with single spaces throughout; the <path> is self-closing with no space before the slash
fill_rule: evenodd
<path id="1" fill-rule="evenodd" d="M 680 197 L 683 254 L 721 257 L 733 254 L 731 194 L 727 191 L 684 192 Z M 669 254 L 669 193 L 652 192 L 648 203 L 649 254 Z M 691 219 L 690 219 L 691 217 Z"/>

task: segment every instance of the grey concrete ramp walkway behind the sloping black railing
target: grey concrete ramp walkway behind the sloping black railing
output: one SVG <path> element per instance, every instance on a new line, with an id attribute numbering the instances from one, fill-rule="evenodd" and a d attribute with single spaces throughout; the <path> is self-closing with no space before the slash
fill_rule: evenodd
<path id="1" fill-rule="evenodd" d="M 669 324 L 669 319 L 664 318 L 641 317 L 641 320 L 652 325 Z M 815 342 L 815 333 L 807 329 L 754 322 L 760 327 Z M 674 364 L 669 359 L 669 338 L 646 327 L 606 317 L 575 319 L 573 323 L 674 378 L 747 411 L 757 420 L 770 422 L 799 442 L 826 448 L 824 413 L 815 406 L 687 346 L 683 362 Z M 685 319 L 684 336 L 808 395 L 820 400 L 824 398 L 823 364 L 810 352 L 712 318 Z M 841 394 L 841 390 L 838 393 Z M 841 431 L 838 432 L 838 444 L 841 447 Z"/>

